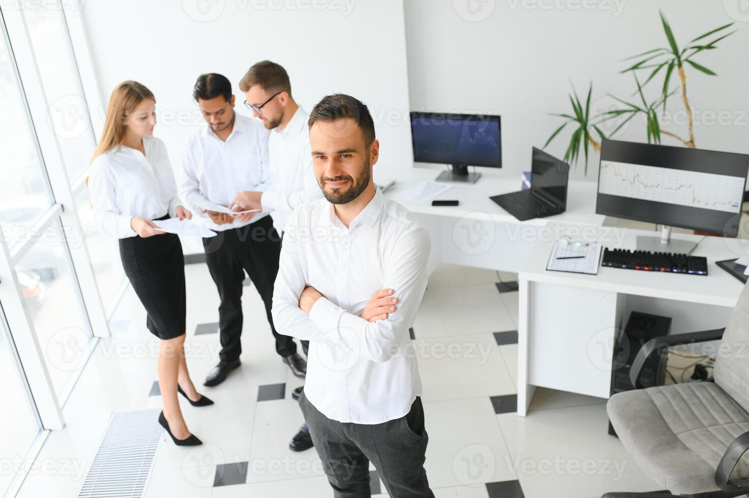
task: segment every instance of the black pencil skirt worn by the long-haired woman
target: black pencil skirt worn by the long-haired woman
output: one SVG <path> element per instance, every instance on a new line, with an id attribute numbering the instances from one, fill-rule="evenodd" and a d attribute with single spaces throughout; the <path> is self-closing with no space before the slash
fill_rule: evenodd
<path id="1" fill-rule="evenodd" d="M 120 259 L 148 313 L 148 330 L 161 339 L 184 334 L 185 267 L 180 238 L 159 234 L 120 239 Z"/>

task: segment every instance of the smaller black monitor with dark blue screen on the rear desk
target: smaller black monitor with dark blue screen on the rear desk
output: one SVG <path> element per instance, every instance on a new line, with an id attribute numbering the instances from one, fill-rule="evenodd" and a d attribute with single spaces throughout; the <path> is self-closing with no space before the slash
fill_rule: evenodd
<path id="1" fill-rule="evenodd" d="M 411 112 L 413 160 L 452 165 L 437 180 L 475 183 L 468 166 L 502 167 L 500 130 L 499 116 Z"/>

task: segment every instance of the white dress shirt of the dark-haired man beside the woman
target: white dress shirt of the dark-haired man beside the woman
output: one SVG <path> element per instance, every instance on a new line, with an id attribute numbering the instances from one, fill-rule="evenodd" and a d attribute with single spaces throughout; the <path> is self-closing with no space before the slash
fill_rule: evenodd
<path id="1" fill-rule="evenodd" d="M 239 228 L 267 216 L 256 213 L 249 222 L 217 225 L 207 213 L 207 202 L 229 206 L 242 190 L 264 191 L 270 186 L 268 131 L 260 121 L 234 114 L 234 128 L 224 142 L 206 124 L 187 139 L 182 160 L 180 195 L 193 207 L 193 221 L 211 230 Z"/>

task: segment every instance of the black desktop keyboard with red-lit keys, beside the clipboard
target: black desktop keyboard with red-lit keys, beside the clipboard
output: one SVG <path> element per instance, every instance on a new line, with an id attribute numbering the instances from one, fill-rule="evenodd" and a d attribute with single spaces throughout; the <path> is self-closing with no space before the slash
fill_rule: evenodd
<path id="1" fill-rule="evenodd" d="M 671 252 L 604 249 L 601 266 L 663 273 L 707 275 L 707 258 L 704 256 L 672 254 Z"/>

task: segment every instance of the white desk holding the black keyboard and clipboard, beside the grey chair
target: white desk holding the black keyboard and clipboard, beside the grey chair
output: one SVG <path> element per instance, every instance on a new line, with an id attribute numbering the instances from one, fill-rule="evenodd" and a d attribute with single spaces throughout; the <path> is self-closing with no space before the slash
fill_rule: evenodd
<path id="1" fill-rule="evenodd" d="M 637 235 L 658 235 L 598 231 L 607 231 L 604 246 L 628 249 Z M 708 258 L 707 276 L 610 267 L 600 267 L 598 275 L 547 271 L 553 242 L 533 246 L 518 273 L 518 415 L 526 415 L 536 386 L 608 398 L 614 333 L 633 310 L 670 316 L 671 333 L 726 326 L 743 284 L 715 261 L 737 258 L 747 248 L 722 237 L 673 237 L 702 240 L 693 254 Z"/>

